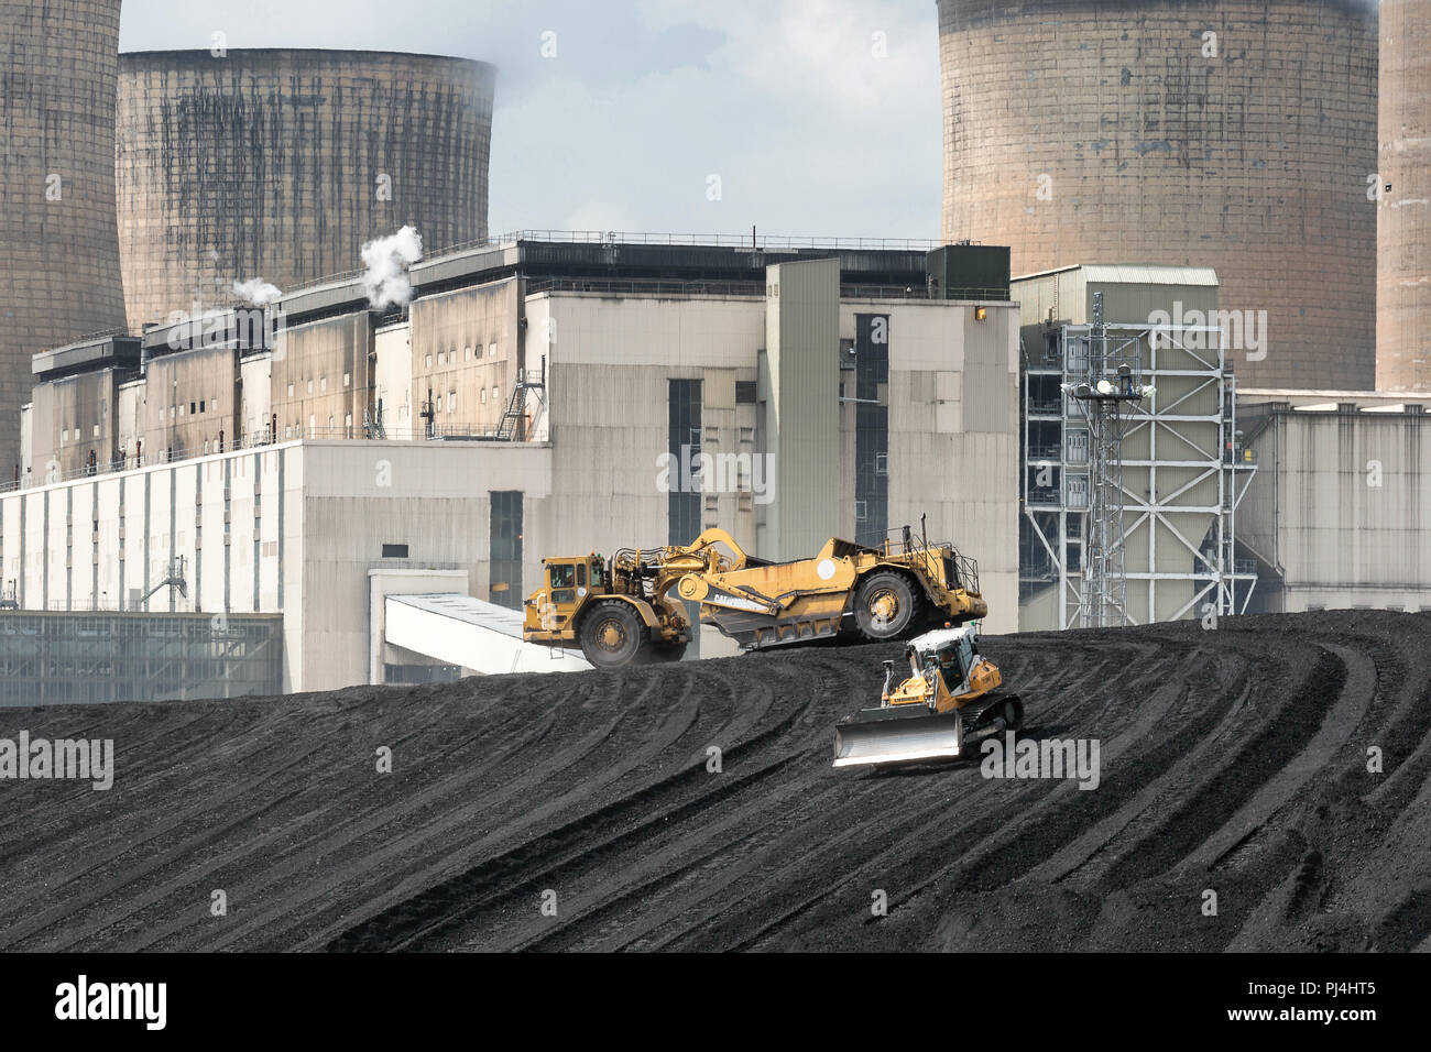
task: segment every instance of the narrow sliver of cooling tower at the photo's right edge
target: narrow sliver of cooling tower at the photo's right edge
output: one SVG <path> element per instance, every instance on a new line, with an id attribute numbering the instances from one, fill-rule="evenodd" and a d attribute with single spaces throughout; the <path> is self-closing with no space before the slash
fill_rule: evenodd
<path id="1" fill-rule="evenodd" d="M 1431 0 L 1381 0 L 1377 386 L 1431 391 Z"/>

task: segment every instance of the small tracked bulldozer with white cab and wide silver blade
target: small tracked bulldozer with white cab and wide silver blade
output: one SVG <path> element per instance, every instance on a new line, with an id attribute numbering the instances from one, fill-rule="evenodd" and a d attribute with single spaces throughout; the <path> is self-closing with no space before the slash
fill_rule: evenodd
<path id="1" fill-rule="evenodd" d="M 924 633 L 904 656 L 909 677 L 896 684 L 894 661 L 886 661 L 879 707 L 836 724 L 836 767 L 957 759 L 1023 724 L 1019 697 L 999 690 L 1003 674 L 979 654 L 976 625 Z"/>

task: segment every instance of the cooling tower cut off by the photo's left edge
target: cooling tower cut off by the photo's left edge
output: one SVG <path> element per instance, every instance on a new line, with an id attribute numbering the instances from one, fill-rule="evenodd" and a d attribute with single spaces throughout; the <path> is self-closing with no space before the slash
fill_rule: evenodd
<path id="1" fill-rule="evenodd" d="M 0 479 L 30 355 L 124 323 L 114 229 L 119 0 L 0 0 Z"/>

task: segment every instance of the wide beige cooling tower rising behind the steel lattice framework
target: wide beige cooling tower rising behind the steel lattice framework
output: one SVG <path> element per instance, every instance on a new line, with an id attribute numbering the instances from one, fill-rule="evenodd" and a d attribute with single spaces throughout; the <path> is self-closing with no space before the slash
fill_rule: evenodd
<path id="1" fill-rule="evenodd" d="M 1372 386 L 1371 0 L 940 0 L 939 31 L 946 240 L 1211 266 L 1266 312 L 1242 385 Z"/>

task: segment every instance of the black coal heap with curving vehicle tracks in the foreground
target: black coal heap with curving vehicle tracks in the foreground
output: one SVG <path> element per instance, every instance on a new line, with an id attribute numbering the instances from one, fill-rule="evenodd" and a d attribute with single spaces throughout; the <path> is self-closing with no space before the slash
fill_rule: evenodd
<path id="1" fill-rule="evenodd" d="M 0 948 L 1431 946 L 1431 617 L 982 648 L 1019 739 L 1099 743 L 1096 789 L 979 757 L 831 770 L 893 643 L 0 710 L 0 737 L 116 751 L 109 792 L 0 783 Z"/>

